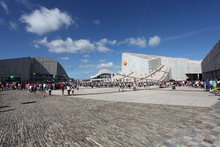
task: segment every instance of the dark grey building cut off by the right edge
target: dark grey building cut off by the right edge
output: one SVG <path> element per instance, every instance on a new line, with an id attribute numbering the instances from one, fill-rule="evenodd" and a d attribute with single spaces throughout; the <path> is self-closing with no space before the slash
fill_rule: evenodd
<path id="1" fill-rule="evenodd" d="M 220 79 L 220 40 L 202 61 L 203 79 Z"/>

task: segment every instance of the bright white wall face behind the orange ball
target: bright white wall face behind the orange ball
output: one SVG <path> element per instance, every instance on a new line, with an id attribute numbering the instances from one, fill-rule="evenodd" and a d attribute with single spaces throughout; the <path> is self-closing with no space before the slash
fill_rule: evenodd
<path id="1" fill-rule="evenodd" d="M 127 65 L 124 65 L 123 62 L 126 61 Z M 137 72 L 141 74 L 149 73 L 149 63 L 147 59 L 122 54 L 122 71 L 124 72 Z"/>

